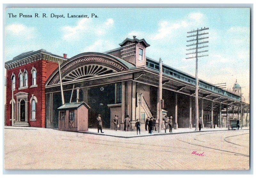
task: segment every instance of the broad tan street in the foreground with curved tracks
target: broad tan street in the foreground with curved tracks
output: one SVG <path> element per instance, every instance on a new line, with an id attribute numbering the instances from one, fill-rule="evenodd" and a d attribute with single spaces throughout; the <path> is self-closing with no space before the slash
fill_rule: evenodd
<path id="1" fill-rule="evenodd" d="M 7 127 L 4 129 L 4 167 L 244 170 L 249 169 L 249 131 L 218 130 L 120 138 Z"/>

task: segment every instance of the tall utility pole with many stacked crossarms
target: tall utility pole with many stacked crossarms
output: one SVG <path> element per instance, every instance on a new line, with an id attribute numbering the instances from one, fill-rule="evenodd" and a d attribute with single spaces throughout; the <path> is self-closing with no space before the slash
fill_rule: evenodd
<path id="1" fill-rule="evenodd" d="M 201 55 L 201 56 L 198 56 L 198 53 L 204 53 L 204 52 L 208 52 L 208 50 L 203 50 L 203 51 L 198 51 L 198 49 L 201 49 L 201 48 L 206 48 L 208 47 L 208 45 L 206 46 L 198 46 L 198 45 L 201 45 L 201 44 L 204 44 L 204 43 L 208 43 L 209 41 L 202 41 L 202 42 L 199 42 L 201 40 L 204 40 L 204 39 L 207 39 L 209 37 L 200 37 L 198 38 L 199 36 L 202 36 L 202 35 L 206 35 L 206 34 L 209 34 L 208 32 L 207 33 L 199 33 L 199 32 L 203 32 L 204 30 L 209 30 L 209 28 L 201 28 L 198 30 L 193 30 L 193 31 L 190 31 L 190 32 L 187 32 L 187 33 L 196 33 L 196 34 L 193 34 L 193 35 L 189 35 L 187 36 L 188 38 L 189 37 L 196 37 L 196 39 L 192 39 L 192 40 L 187 40 L 187 42 L 191 42 L 191 41 L 196 41 L 196 43 L 192 43 L 192 44 L 189 44 L 189 45 L 186 45 L 187 47 L 189 46 L 196 46 L 196 48 L 190 48 L 190 49 L 186 49 L 187 51 L 189 50 L 196 50 L 195 52 L 191 52 L 191 53 L 187 53 L 186 55 L 192 55 L 190 57 L 186 57 L 186 59 L 192 59 L 192 58 L 196 58 L 196 92 L 195 92 L 195 111 L 196 111 L 196 130 L 199 130 L 198 129 L 198 117 L 199 117 L 199 107 L 198 107 L 198 58 L 199 57 L 204 57 L 204 56 L 208 56 L 208 55 Z M 195 55 L 195 56 L 194 56 Z"/>

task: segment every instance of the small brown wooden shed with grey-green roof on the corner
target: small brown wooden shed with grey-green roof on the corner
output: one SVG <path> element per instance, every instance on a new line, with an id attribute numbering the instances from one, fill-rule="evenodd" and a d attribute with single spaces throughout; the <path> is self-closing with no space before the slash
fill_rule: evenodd
<path id="1" fill-rule="evenodd" d="M 88 130 L 88 109 L 90 107 L 84 101 L 66 103 L 59 107 L 59 130 Z"/>

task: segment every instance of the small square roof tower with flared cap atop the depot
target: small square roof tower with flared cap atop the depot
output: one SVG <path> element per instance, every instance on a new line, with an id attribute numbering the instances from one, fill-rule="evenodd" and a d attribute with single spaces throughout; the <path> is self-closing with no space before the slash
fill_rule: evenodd
<path id="1" fill-rule="evenodd" d="M 146 48 L 150 45 L 144 39 L 137 39 L 133 36 L 133 39 L 126 38 L 121 46 L 120 58 L 132 63 L 136 67 L 146 65 Z"/>

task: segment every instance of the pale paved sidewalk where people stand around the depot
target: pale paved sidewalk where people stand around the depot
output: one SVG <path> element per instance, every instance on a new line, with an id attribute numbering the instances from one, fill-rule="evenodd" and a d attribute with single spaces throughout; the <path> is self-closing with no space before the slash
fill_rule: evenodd
<path id="1" fill-rule="evenodd" d="M 241 130 L 241 129 L 239 129 Z M 243 127 L 242 130 L 249 130 L 249 127 Z M 169 129 L 166 130 L 166 133 L 164 133 L 164 130 L 161 130 L 162 132 L 158 133 L 158 131 L 153 131 L 152 134 L 149 134 L 148 131 L 145 131 L 142 129 L 140 131 L 140 134 L 136 131 L 123 131 L 123 130 L 110 130 L 110 129 L 104 129 L 102 130 L 104 133 L 98 133 L 98 129 L 88 129 L 88 131 L 80 131 L 83 133 L 88 134 L 96 134 L 96 135 L 105 135 L 105 136 L 111 136 L 111 137 L 122 137 L 122 138 L 132 138 L 132 137 L 147 137 L 147 136 L 157 136 L 157 135 L 172 135 L 172 134 L 180 134 L 180 133 L 189 133 L 189 132 L 205 132 L 205 131 L 232 131 L 228 130 L 228 128 L 203 128 L 201 131 L 195 131 L 195 128 L 189 129 L 189 128 L 179 128 L 177 130 L 172 129 L 172 133 L 169 132 Z"/>

